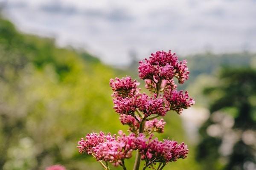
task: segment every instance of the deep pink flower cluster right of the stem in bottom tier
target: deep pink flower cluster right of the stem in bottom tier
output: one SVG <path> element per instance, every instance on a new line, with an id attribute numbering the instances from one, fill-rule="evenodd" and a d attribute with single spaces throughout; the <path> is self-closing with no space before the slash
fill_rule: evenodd
<path id="1" fill-rule="evenodd" d="M 146 139 L 142 133 L 137 137 L 135 143 L 138 146 L 142 159 L 148 163 L 151 161 L 151 163 L 161 162 L 166 164 L 169 161 L 186 158 L 189 151 L 184 143 L 178 144 L 176 141 L 168 139 L 163 142 L 157 138 L 152 140 L 152 136 Z"/>

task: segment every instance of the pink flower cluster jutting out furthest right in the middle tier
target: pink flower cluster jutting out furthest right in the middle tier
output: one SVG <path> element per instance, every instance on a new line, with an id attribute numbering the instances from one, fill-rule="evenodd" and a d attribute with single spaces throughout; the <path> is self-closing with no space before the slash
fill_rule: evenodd
<path id="1" fill-rule="evenodd" d="M 187 91 L 185 91 L 185 95 L 183 91 L 165 91 L 164 97 L 170 105 L 171 110 L 176 111 L 178 114 L 195 104 L 194 99 L 189 98 Z"/>

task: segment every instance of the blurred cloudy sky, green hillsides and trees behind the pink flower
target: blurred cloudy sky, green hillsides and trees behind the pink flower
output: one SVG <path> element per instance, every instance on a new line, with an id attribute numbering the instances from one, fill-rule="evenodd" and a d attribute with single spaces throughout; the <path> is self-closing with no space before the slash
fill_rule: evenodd
<path id="1" fill-rule="evenodd" d="M 166 169 L 256 170 L 255 0 L 0 0 L 0 170 L 101 170 L 76 143 L 127 129 L 109 79 L 169 49 L 196 104 L 156 135 L 189 145 Z"/>

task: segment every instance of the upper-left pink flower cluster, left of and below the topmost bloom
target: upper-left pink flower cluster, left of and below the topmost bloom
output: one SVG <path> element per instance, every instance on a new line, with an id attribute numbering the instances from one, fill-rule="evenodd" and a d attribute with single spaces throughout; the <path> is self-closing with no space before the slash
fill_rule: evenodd
<path id="1" fill-rule="evenodd" d="M 131 77 L 123 77 L 122 79 L 116 77 L 116 80 L 110 79 L 109 85 L 113 90 L 112 96 L 114 97 L 125 98 L 137 94 L 140 91 L 137 88 L 140 83 L 137 80 L 132 81 Z"/>

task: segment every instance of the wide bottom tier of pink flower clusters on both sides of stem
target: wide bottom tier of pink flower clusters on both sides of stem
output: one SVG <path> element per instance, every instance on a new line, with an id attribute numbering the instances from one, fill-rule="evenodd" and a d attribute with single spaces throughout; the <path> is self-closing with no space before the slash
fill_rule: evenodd
<path id="1" fill-rule="evenodd" d="M 155 122 L 157 123 L 154 120 L 151 124 Z M 162 125 L 164 124 L 163 120 L 160 120 L 160 122 L 162 122 Z M 123 166 L 124 159 L 131 158 L 134 150 L 140 151 L 143 160 L 154 160 L 151 163 L 162 162 L 165 164 L 179 158 L 186 158 L 188 153 L 187 146 L 184 143 L 177 144 L 176 141 L 170 140 L 162 142 L 158 141 L 157 138 L 152 140 L 152 135 L 147 139 L 142 133 L 136 137 L 134 133 L 126 136 L 125 133 L 119 131 L 119 135 L 116 137 L 116 135 L 111 136 L 108 133 L 105 136 L 102 132 L 87 134 L 86 140 L 81 139 L 78 142 L 79 152 L 93 155 L 98 161 L 108 161 L 114 166 Z"/>

